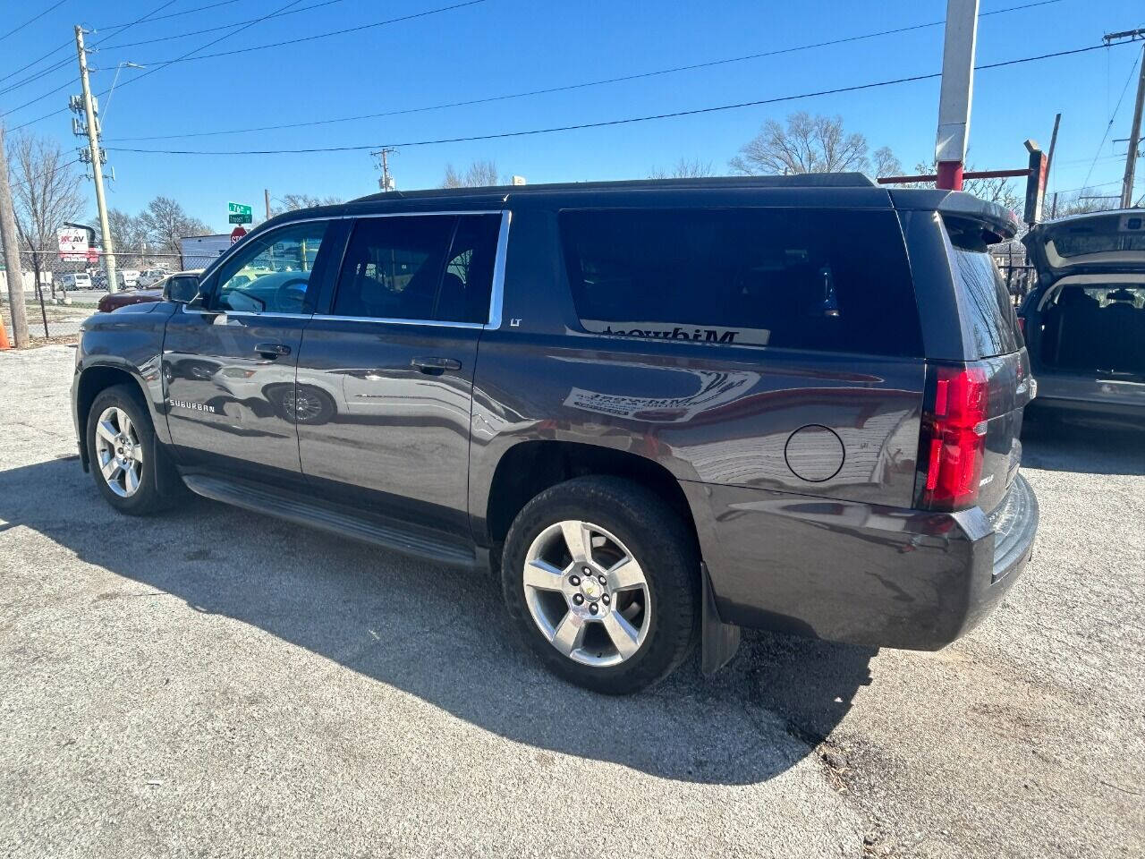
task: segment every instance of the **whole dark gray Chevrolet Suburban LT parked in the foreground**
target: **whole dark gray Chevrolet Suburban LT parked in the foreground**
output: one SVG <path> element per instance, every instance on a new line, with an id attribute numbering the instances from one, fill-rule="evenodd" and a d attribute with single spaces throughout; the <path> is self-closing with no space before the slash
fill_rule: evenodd
<path id="1" fill-rule="evenodd" d="M 390 192 L 85 323 L 117 510 L 216 501 L 499 578 L 608 693 L 739 628 L 932 649 L 1029 558 L 1013 216 L 859 175 Z M 252 572 L 252 575 L 256 575 Z"/>

